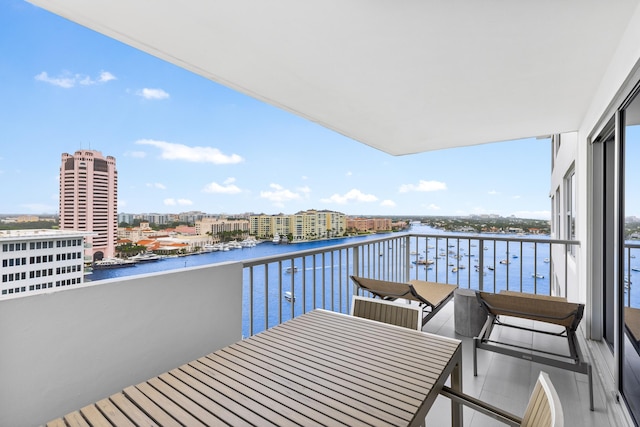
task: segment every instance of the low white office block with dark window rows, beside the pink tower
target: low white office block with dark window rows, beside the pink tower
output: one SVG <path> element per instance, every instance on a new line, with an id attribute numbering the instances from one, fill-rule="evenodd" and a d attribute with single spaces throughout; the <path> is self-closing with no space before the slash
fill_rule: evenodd
<path id="1" fill-rule="evenodd" d="M 85 237 L 64 230 L 0 231 L 0 298 L 83 283 Z"/>

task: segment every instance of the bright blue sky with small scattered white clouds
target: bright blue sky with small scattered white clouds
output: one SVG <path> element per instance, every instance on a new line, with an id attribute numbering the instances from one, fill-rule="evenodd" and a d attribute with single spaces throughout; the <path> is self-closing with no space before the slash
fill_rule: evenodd
<path id="1" fill-rule="evenodd" d="M 0 213 L 55 213 L 82 148 L 116 158 L 120 212 L 550 218 L 548 140 L 394 157 L 21 0 L 0 55 Z"/>

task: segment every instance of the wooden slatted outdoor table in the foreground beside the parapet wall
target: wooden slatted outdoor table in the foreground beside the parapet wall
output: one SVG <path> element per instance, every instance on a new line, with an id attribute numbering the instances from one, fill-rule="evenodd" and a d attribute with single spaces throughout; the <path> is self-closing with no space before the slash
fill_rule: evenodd
<path id="1" fill-rule="evenodd" d="M 419 426 L 461 364 L 458 340 L 314 310 L 47 426 Z"/>

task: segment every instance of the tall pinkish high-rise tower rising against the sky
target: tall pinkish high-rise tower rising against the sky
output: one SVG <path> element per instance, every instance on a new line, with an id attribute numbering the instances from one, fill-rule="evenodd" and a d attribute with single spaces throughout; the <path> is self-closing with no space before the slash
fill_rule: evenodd
<path id="1" fill-rule="evenodd" d="M 60 166 L 60 228 L 91 231 L 87 254 L 113 257 L 118 238 L 116 159 L 99 151 L 63 153 Z"/>

